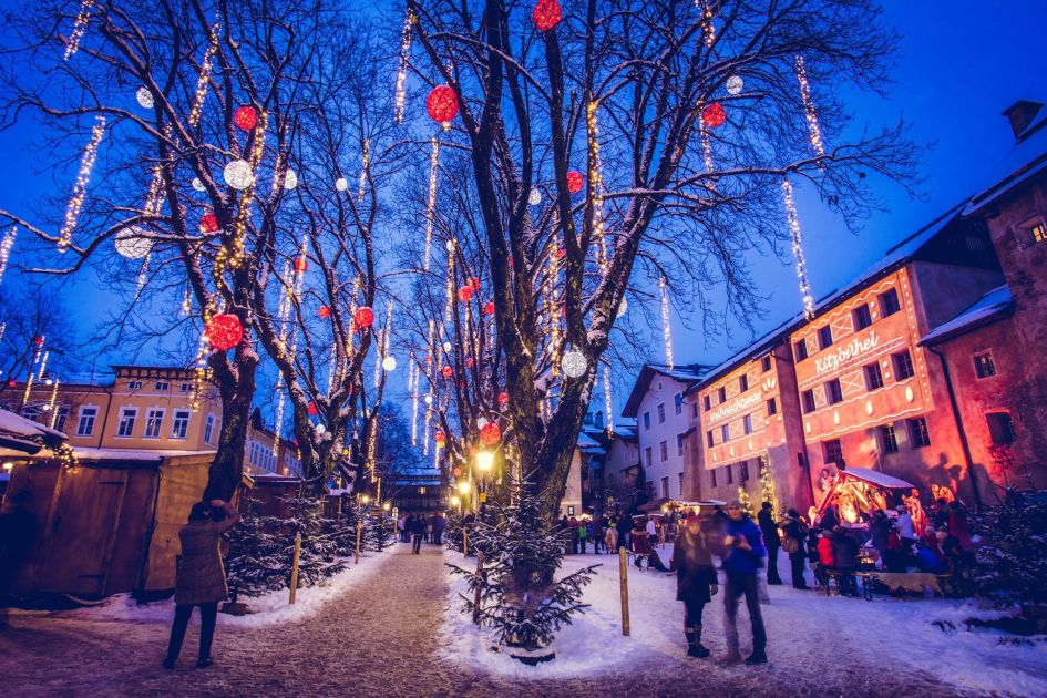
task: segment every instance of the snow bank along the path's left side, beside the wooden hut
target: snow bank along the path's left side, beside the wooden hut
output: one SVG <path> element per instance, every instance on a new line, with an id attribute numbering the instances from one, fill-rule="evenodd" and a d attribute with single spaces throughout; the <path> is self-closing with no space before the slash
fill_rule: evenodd
<path id="1" fill-rule="evenodd" d="M 331 576 L 322 586 L 310 586 L 298 589 L 295 604 L 288 603 L 288 589 L 269 592 L 256 597 L 242 597 L 252 612 L 245 616 L 218 614 L 218 626 L 222 627 L 265 627 L 283 624 L 317 615 L 325 605 L 342 595 L 347 589 L 372 577 L 386 562 L 388 554 L 368 553 L 361 556 L 360 564 L 352 566 L 352 560 L 347 560 L 348 566 Z M 63 616 L 82 620 L 111 620 L 114 623 L 170 625 L 174 617 L 174 598 L 167 598 L 151 604 L 137 603 L 131 594 L 115 594 L 101 605 L 75 608 L 60 612 L 18 612 L 25 615 Z M 198 623 L 198 614 L 193 614 L 194 623 Z"/>

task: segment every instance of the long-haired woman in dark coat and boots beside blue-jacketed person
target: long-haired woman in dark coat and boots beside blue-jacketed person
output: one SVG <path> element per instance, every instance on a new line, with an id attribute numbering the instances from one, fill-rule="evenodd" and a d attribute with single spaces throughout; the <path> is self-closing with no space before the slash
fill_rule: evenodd
<path id="1" fill-rule="evenodd" d="M 688 516 L 680 527 L 670 565 L 676 569 L 676 601 L 684 602 L 687 656 L 708 657 L 709 650 L 701 644 L 701 612 L 719 587 L 712 555 L 697 515 Z"/>

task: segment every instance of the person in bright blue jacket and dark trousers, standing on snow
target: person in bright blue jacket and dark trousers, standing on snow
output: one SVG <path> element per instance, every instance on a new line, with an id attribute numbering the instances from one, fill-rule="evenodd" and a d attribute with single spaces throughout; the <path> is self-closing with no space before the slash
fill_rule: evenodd
<path id="1" fill-rule="evenodd" d="M 727 505 L 728 520 L 723 530 L 723 572 L 727 585 L 723 594 L 725 623 L 727 634 L 727 661 L 738 661 L 738 602 L 746 597 L 749 620 L 752 623 L 752 654 L 746 664 L 767 663 L 767 632 L 763 629 L 763 616 L 760 614 L 760 595 L 757 574 L 763 566 L 767 546 L 760 527 L 741 510 L 741 503 L 732 500 Z"/>

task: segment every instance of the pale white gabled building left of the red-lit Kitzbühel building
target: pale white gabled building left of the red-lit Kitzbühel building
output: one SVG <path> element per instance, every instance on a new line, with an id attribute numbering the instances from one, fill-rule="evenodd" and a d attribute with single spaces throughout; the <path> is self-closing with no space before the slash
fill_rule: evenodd
<path id="1" fill-rule="evenodd" d="M 677 366 L 646 365 L 622 410 L 623 417 L 636 419 L 639 460 L 649 500 L 681 499 L 684 490 L 684 443 L 698 424 L 698 406 L 684 393 L 701 380 L 709 367 L 698 363 Z"/>

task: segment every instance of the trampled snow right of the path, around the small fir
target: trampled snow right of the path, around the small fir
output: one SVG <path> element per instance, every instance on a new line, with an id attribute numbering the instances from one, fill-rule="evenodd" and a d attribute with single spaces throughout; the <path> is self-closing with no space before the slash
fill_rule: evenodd
<path id="1" fill-rule="evenodd" d="M 668 560 L 671 548 L 666 548 L 661 555 Z M 782 557 L 779 569 L 786 585 L 770 587 L 771 603 L 763 606 L 772 666 L 840 674 L 835 679 L 843 685 L 849 671 L 897 673 L 933 677 L 942 686 L 971 691 L 1047 695 L 1047 638 L 1031 638 L 1033 646 L 1002 644 L 1005 634 L 967 629 L 963 623 L 973 617 L 998 617 L 1002 612 L 955 599 L 876 596 L 866 602 L 797 591 L 789 586 L 788 558 Z M 474 558 L 463 563 L 462 556 L 454 553 L 448 553 L 448 562 L 470 567 L 476 564 Z M 569 555 L 563 573 L 596 563 L 603 566 L 584 596 L 592 608 L 560 632 L 552 647 L 556 659 L 537 667 L 492 651 L 491 632 L 478 630 L 461 612 L 459 594 L 465 592 L 464 579 L 451 575 L 449 569 L 450 603 L 441 628 L 440 654 L 448 661 L 517 679 L 598 677 L 640 664 L 646 668 L 664 666 L 667 671 L 678 670 L 686 644 L 675 577 L 629 568 L 632 635 L 625 637 L 617 558 Z M 706 606 L 704 622 L 702 641 L 712 650 L 711 660 L 716 661 L 726 654 L 722 596 L 714 597 Z M 943 630 L 935 622 L 951 623 L 957 629 Z M 751 636 L 743 604 L 739 610 L 739 633 L 746 653 Z M 728 673 L 746 669 L 723 668 Z"/>

